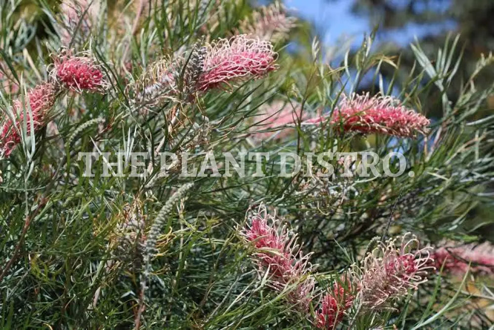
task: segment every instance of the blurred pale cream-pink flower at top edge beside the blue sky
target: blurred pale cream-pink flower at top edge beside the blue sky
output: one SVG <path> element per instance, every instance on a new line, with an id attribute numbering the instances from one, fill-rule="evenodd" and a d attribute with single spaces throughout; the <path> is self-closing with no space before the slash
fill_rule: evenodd
<path id="1" fill-rule="evenodd" d="M 251 17 L 240 23 L 243 33 L 261 40 L 278 42 L 288 36 L 296 19 L 287 16 L 283 4 L 275 2 L 254 11 Z"/>

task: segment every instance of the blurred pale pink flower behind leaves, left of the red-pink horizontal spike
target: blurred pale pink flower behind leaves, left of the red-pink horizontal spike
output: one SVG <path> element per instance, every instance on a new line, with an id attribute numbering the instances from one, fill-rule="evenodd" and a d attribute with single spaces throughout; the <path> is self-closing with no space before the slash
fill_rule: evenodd
<path id="1" fill-rule="evenodd" d="M 259 112 L 261 114 L 253 118 L 256 125 L 250 128 L 253 137 L 258 140 L 265 140 L 272 136 L 283 139 L 294 131 L 293 126 L 297 122 L 300 108 L 293 107 L 289 102 L 274 101 L 260 108 Z M 302 120 L 306 118 L 307 115 L 302 113 Z M 259 130 L 272 131 L 259 132 Z"/>

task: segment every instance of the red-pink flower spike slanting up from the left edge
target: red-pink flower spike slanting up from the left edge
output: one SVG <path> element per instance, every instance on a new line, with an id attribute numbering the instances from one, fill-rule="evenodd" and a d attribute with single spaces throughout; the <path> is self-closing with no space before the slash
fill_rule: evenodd
<path id="1" fill-rule="evenodd" d="M 55 102 L 56 89 L 53 84 L 46 83 L 36 86 L 22 99 L 14 101 L 14 120 L 6 119 L 0 129 L 0 152 L 8 157 L 15 146 L 21 141 L 20 132 L 24 126 L 24 112 L 27 115 L 27 133 L 31 133 L 31 124 L 36 132 L 45 124 L 46 112 Z"/>

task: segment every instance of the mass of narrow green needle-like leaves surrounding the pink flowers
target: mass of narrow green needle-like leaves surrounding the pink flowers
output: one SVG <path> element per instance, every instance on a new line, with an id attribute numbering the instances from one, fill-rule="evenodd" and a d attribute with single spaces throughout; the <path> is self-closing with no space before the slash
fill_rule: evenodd
<path id="1" fill-rule="evenodd" d="M 23 147 L 0 160 L 2 329 L 311 329 L 310 318 L 284 302 L 287 292 L 271 290 L 267 275 L 259 276 L 249 259 L 253 251 L 238 229 L 249 207 L 260 203 L 276 208 L 297 232 L 301 249 L 313 252 L 320 287 L 331 287 L 340 271 L 361 261 L 376 236 L 413 232 L 433 246 L 444 239 L 475 241 L 462 224 L 476 205 L 492 204 L 486 185 L 494 174 L 494 117 L 477 114 L 488 106 L 494 85 L 476 84 L 492 56 L 479 58 L 462 80 L 456 76 L 458 39 L 447 40 L 431 59 L 413 45 L 413 66 L 403 77 L 394 58 L 372 50 L 373 35 L 355 53 L 331 58 L 314 40 L 310 49 L 296 50 L 307 55 L 305 62 L 295 60 L 278 36 L 276 71 L 222 86 L 226 91 L 199 92 L 186 88 L 188 64 L 204 40 L 243 32 L 255 10 L 244 1 L 94 0 L 98 11 L 90 31 L 82 28 L 87 9 L 79 12 L 78 23 L 66 26 L 57 6 L 40 2 L 42 20 L 34 22 L 19 14 L 21 2 L 1 1 L 1 79 L 19 86 L 1 93 L 2 116 L 12 99 L 49 79 L 49 54 L 61 47 L 90 50 L 109 86 L 104 94 L 64 95 L 54 105 L 53 121 L 37 134 L 24 125 Z M 61 29 L 71 29 L 69 45 Z M 136 87 L 156 79 L 156 63 L 169 58 L 180 58 L 172 77 L 178 92 L 152 104 L 136 101 Z M 382 70 L 394 75 L 383 78 Z M 372 94 L 393 94 L 425 115 L 426 100 L 439 95 L 442 111 L 430 116 L 430 133 L 396 139 L 302 125 L 306 115 L 330 112 L 342 94 L 359 91 L 369 80 Z M 451 98 L 453 84 L 457 94 Z M 283 137 L 274 131 L 284 127 L 266 129 L 259 120 L 275 102 L 296 110 Z M 270 134 L 258 139 L 257 133 Z M 278 176 L 279 152 L 335 149 L 374 151 L 381 159 L 399 150 L 406 173 L 414 176 L 335 176 L 312 185 L 302 173 Z M 106 177 L 107 163 L 99 157 L 94 176 L 83 175 L 85 159 L 78 153 L 120 150 L 125 159 L 145 152 L 145 168 L 152 171 L 128 176 L 135 168 L 127 164 L 123 177 Z M 210 153 L 222 159 L 222 152 L 232 152 L 238 162 L 242 152 L 271 157 L 262 163 L 265 177 L 253 176 L 252 160 L 245 177 L 183 178 L 174 169 L 161 176 L 156 151 L 191 153 L 189 171 L 201 168 Z M 329 162 L 341 166 L 338 159 Z M 377 164 L 381 173 L 382 166 Z M 396 172 L 399 162 L 390 167 Z M 355 313 L 340 327 L 485 329 L 489 316 L 462 291 L 467 277 L 459 289 L 453 280 L 436 279 L 398 308 Z M 488 284 L 482 285 L 482 297 L 492 303 Z M 311 313 L 315 308 L 317 301 Z"/>

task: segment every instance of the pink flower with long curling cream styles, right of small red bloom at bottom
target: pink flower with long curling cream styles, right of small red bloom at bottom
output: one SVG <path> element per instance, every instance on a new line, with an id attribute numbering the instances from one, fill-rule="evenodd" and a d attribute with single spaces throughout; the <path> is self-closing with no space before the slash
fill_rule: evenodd
<path id="1" fill-rule="evenodd" d="M 417 289 L 426 282 L 428 271 L 434 269 L 429 266 L 430 248 L 418 249 L 418 239 L 410 234 L 401 237 L 399 247 L 397 239 L 380 242 L 363 260 L 358 286 L 366 308 L 393 309 L 394 302 L 406 296 L 409 289 Z"/>

